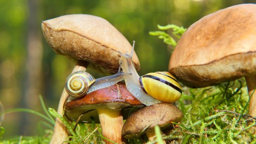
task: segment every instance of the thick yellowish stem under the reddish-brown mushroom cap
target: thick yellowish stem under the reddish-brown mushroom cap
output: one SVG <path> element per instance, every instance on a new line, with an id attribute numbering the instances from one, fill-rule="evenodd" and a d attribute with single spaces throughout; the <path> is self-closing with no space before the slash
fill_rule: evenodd
<path id="1" fill-rule="evenodd" d="M 121 110 L 97 109 L 103 137 L 122 143 L 123 116 Z M 106 143 L 112 143 L 105 140 Z"/>

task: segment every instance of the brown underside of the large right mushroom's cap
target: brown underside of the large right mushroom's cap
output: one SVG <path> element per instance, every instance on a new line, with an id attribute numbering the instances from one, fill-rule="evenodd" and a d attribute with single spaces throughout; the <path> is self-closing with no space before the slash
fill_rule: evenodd
<path id="1" fill-rule="evenodd" d="M 254 74 L 255 70 L 256 52 L 228 55 L 205 65 L 189 65 L 169 69 L 181 83 L 193 88 L 241 78 Z"/>

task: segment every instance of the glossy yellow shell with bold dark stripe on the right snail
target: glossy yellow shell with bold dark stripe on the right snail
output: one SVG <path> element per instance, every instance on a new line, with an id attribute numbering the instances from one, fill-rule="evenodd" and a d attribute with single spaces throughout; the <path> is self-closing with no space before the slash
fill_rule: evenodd
<path id="1" fill-rule="evenodd" d="M 164 102 L 175 102 L 181 97 L 181 86 L 169 72 L 159 71 L 140 77 L 140 84 L 147 94 Z"/>

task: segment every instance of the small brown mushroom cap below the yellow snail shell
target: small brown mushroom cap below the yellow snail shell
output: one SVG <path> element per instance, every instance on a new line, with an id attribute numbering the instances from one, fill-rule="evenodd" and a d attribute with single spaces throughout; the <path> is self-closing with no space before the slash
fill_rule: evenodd
<path id="1" fill-rule="evenodd" d="M 154 129 L 156 125 L 162 129 L 172 125 L 171 122 L 179 122 L 183 118 L 180 109 L 171 103 L 157 103 L 144 107 L 126 119 L 122 136 L 126 139 L 140 137 L 143 132 Z"/>

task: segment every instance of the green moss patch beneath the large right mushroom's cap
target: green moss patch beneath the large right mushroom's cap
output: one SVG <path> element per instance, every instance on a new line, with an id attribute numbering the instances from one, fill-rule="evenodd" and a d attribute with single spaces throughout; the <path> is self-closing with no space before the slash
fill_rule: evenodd
<path id="1" fill-rule="evenodd" d="M 235 88 L 233 85 L 237 84 L 241 86 Z M 255 123 L 247 124 L 255 120 L 244 115 L 248 102 L 247 88 L 240 81 L 188 89 L 177 102 L 184 118 L 164 138 L 178 137 L 173 140 L 180 143 L 255 143 L 255 136 L 249 131 Z"/>

